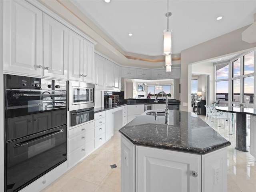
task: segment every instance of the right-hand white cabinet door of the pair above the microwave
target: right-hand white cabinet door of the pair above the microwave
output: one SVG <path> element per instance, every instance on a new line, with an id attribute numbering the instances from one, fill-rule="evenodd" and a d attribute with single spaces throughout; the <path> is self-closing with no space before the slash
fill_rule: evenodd
<path id="1" fill-rule="evenodd" d="M 95 83 L 94 44 L 84 39 L 84 81 Z"/>

